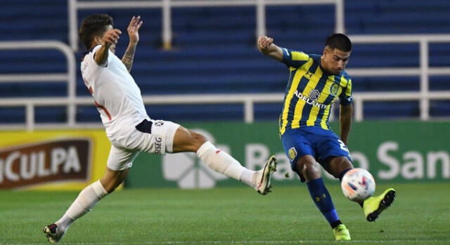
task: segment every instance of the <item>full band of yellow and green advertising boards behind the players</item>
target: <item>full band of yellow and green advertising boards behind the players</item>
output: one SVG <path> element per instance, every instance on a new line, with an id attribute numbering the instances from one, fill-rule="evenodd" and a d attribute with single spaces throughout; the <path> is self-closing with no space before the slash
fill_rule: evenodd
<path id="1" fill-rule="evenodd" d="M 278 135 L 276 121 L 245 124 L 184 124 L 200 131 L 221 150 L 250 169 L 275 154 L 274 185 L 295 185 Z M 338 130 L 338 124 L 332 124 Z M 381 182 L 450 180 L 448 122 L 373 121 L 354 123 L 349 149 L 354 166 L 366 168 Z M 0 189 L 81 190 L 105 171 L 110 143 L 103 130 L 0 132 Z M 325 174 L 328 182 L 338 183 Z M 242 185 L 203 166 L 193 153 L 165 156 L 141 153 L 125 187 L 212 188 Z"/>

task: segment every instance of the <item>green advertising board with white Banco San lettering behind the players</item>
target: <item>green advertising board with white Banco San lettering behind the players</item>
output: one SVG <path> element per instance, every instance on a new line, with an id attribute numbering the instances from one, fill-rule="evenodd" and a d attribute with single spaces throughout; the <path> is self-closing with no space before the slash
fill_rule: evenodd
<path id="1" fill-rule="evenodd" d="M 185 124 L 207 135 L 222 150 L 243 165 L 259 169 L 275 154 L 278 171 L 274 185 L 300 182 L 290 170 L 278 135 L 277 122 Z M 338 124 L 332 124 L 338 131 Z M 349 150 L 354 166 L 366 168 L 378 182 L 419 182 L 450 180 L 450 135 L 448 122 L 373 121 L 354 123 Z M 325 174 L 328 182 L 338 183 Z M 210 188 L 242 185 L 200 164 L 193 153 L 156 156 L 140 154 L 127 178 L 126 187 Z"/>

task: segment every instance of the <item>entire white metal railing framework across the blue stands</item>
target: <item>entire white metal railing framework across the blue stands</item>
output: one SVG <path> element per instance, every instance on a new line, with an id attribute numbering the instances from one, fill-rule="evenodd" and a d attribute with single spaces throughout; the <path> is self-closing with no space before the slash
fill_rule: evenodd
<path id="1" fill-rule="evenodd" d="M 256 6 L 257 7 L 257 35 L 265 32 L 266 5 L 285 4 L 335 4 L 337 32 L 344 32 L 343 25 L 343 0 L 227 0 L 227 1 L 69 1 L 69 23 L 70 23 L 70 46 L 77 49 L 77 10 L 86 8 L 163 8 L 163 33 L 162 39 L 166 46 L 170 46 L 172 31 L 170 28 L 170 9 L 174 7 L 192 6 Z M 167 12 L 167 13 L 165 13 Z M 367 35 L 350 36 L 355 44 L 402 44 L 416 43 L 420 46 L 419 67 L 407 68 L 371 68 L 347 69 L 352 77 L 383 77 L 383 76 L 419 76 L 420 91 L 416 92 L 375 92 L 375 93 L 354 93 L 355 119 L 364 119 L 364 102 L 366 101 L 397 101 L 397 100 L 418 100 L 420 101 L 420 119 L 430 119 L 430 100 L 450 100 L 450 91 L 430 91 L 430 75 L 450 75 L 450 67 L 430 67 L 429 51 L 430 43 L 446 42 L 450 43 L 450 35 L 444 34 L 423 34 L 423 35 Z M 1 124 L 1 129 L 21 129 L 33 130 L 34 128 L 97 128 L 101 123 L 85 124 L 75 120 L 76 107 L 78 105 L 92 105 L 91 97 L 77 98 L 75 91 L 75 56 L 69 46 L 59 41 L 14 41 L 0 42 L 1 49 L 41 49 L 54 48 L 65 54 L 68 62 L 68 72 L 66 74 L 0 74 L 1 82 L 39 82 L 39 81 L 68 81 L 68 97 L 60 98 L 8 98 L 0 100 L 0 106 L 25 106 L 26 123 L 6 125 Z M 242 103 L 244 105 L 244 120 L 252 122 L 255 120 L 254 105 L 259 102 L 282 102 L 283 93 L 262 93 L 262 94 L 214 94 L 214 95 L 157 95 L 143 96 L 143 102 L 150 105 L 170 105 L 170 104 L 203 104 L 203 103 Z M 64 105 L 68 107 L 67 124 L 36 124 L 34 121 L 34 107 Z M 333 114 L 331 115 L 333 117 Z"/>

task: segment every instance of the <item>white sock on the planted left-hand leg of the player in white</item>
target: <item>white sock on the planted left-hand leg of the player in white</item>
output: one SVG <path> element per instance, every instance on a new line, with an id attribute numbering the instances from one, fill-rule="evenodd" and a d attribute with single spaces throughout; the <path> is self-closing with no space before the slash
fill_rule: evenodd
<path id="1" fill-rule="evenodd" d="M 69 226 L 80 218 L 85 213 L 91 211 L 100 199 L 108 194 L 103 185 L 101 185 L 100 180 L 92 183 L 88 187 L 84 188 L 72 205 L 70 205 L 68 211 L 65 212 L 64 216 L 60 220 L 56 221 L 58 228 L 63 230 L 68 230 Z"/>

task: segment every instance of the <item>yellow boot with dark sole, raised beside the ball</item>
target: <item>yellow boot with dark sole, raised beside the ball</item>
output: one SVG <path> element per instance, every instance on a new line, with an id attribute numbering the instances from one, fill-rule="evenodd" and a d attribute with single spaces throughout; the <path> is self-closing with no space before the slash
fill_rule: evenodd
<path id="1" fill-rule="evenodd" d="M 364 200 L 363 209 L 366 220 L 371 222 L 377 220 L 380 213 L 392 205 L 395 194 L 395 190 L 389 188 L 377 197 L 369 197 Z"/>

